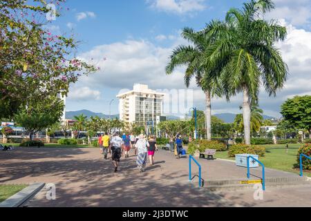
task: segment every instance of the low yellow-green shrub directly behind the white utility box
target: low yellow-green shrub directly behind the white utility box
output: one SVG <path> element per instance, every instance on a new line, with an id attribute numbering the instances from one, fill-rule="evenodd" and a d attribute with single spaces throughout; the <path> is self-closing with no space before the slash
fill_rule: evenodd
<path id="1" fill-rule="evenodd" d="M 254 145 L 245 145 L 245 144 L 236 144 L 229 148 L 228 155 L 229 157 L 235 157 L 236 154 L 254 154 L 260 157 L 265 156 L 265 147 L 263 146 L 254 146 Z"/>

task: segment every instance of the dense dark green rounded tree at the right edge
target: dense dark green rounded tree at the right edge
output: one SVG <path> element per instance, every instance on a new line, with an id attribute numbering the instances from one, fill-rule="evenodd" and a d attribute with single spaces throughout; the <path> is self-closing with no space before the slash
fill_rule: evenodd
<path id="1" fill-rule="evenodd" d="M 307 129 L 311 138 L 311 96 L 296 96 L 281 106 L 284 119 L 299 130 Z"/>

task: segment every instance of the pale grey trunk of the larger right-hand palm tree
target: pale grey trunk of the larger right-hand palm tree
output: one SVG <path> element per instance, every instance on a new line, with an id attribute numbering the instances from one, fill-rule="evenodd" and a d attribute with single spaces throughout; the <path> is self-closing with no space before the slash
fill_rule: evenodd
<path id="1" fill-rule="evenodd" d="M 250 98 L 249 90 L 244 86 L 243 88 L 243 122 L 244 122 L 244 139 L 245 144 L 250 145 Z"/>

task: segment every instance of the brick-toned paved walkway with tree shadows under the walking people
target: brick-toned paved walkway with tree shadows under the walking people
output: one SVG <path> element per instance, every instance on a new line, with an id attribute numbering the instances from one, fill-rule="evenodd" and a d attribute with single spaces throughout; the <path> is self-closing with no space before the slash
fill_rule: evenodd
<path id="1" fill-rule="evenodd" d="M 177 160 L 167 151 L 159 151 L 156 164 L 148 166 L 144 173 L 136 168 L 135 156 L 122 157 L 120 172 L 116 174 L 111 160 L 104 161 L 99 152 L 98 148 L 1 151 L 0 184 L 56 185 L 56 200 L 47 200 L 44 189 L 26 206 L 311 206 L 311 186 L 269 189 L 264 200 L 254 200 L 252 190 L 211 193 L 189 184 L 188 159 Z M 205 180 L 246 178 L 246 169 L 232 162 L 200 163 Z M 261 175 L 261 169 L 252 169 L 252 173 Z M 270 169 L 266 174 L 293 175 Z"/>

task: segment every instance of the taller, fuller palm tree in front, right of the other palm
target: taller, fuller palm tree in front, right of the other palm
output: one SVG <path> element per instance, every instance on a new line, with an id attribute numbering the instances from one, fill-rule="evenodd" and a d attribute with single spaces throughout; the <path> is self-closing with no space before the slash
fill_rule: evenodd
<path id="1" fill-rule="evenodd" d="M 276 21 L 261 19 L 273 8 L 270 0 L 252 0 L 244 3 L 243 10 L 229 10 L 224 22 L 212 21 L 205 30 L 208 38 L 216 39 L 207 49 L 205 64 L 221 69 L 228 100 L 243 92 L 245 144 L 250 144 L 251 104 L 258 102 L 260 86 L 270 96 L 276 96 L 288 75 L 288 66 L 274 46 L 276 41 L 285 39 L 286 29 Z"/>

